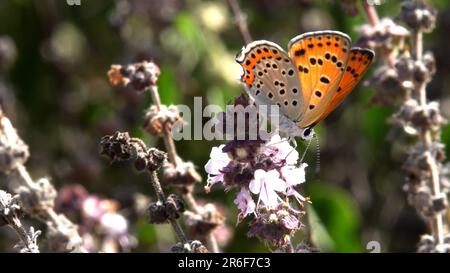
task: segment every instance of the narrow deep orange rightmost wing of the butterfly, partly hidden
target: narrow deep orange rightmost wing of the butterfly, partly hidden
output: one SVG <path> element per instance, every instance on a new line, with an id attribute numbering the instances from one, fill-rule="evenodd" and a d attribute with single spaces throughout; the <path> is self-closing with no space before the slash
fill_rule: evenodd
<path id="1" fill-rule="evenodd" d="M 355 88 L 356 84 L 361 80 L 367 68 L 372 63 L 375 53 L 367 48 L 352 48 L 344 76 L 342 77 L 339 88 L 333 95 L 330 104 L 325 112 L 314 122 L 319 123 L 325 119 L 336 107 L 338 107 L 348 94 Z"/>

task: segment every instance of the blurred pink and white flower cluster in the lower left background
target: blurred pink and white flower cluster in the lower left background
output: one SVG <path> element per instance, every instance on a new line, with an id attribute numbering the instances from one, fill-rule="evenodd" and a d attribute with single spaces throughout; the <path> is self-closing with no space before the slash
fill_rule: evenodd
<path id="1" fill-rule="evenodd" d="M 115 200 L 89 194 L 78 184 L 69 185 L 59 191 L 56 209 L 79 226 L 89 252 L 126 252 L 135 244 Z"/>

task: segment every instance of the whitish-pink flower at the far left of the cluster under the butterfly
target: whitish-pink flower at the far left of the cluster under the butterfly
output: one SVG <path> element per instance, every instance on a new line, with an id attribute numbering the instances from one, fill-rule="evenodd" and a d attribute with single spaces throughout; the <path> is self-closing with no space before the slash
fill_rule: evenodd
<path id="1" fill-rule="evenodd" d="M 213 147 L 209 155 L 210 159 L 205 165 L 205 171 L 208 173 L 208 187 L 222 182 L 224 174 L 221 172 L 231 161 L 228 154 L 222 152 L 225 145 Z"/>

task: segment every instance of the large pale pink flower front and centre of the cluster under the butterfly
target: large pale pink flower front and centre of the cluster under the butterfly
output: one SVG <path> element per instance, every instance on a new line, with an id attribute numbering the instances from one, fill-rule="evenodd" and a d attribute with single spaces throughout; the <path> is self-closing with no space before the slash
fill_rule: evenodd
<path id="1" fill-rule="evenodd" d="M 286 183 L 280 179 L 280 173 L 276 170 L 268 172 L 258 169 L 255 171 L 255 179 L 250 182 L 250 191 L 259 194 L 259 201 L 262 201 L 266 208 L 274 209 L 278 206 L 281 198 L 276 192 L 284 192 Z"/>

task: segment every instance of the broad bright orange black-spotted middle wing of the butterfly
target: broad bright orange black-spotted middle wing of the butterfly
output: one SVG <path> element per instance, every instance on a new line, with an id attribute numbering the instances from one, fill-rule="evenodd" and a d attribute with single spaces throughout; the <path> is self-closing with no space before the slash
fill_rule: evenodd
<path id="1" fill-rule="evenodd" d="M 309 32 L 289 42 L 304 101 L 304 117 L 297 123 L 300 128 L 313 125 L 327 110 L 345 74 L 350 43 L 350 37 L 338 31 Z"/>

